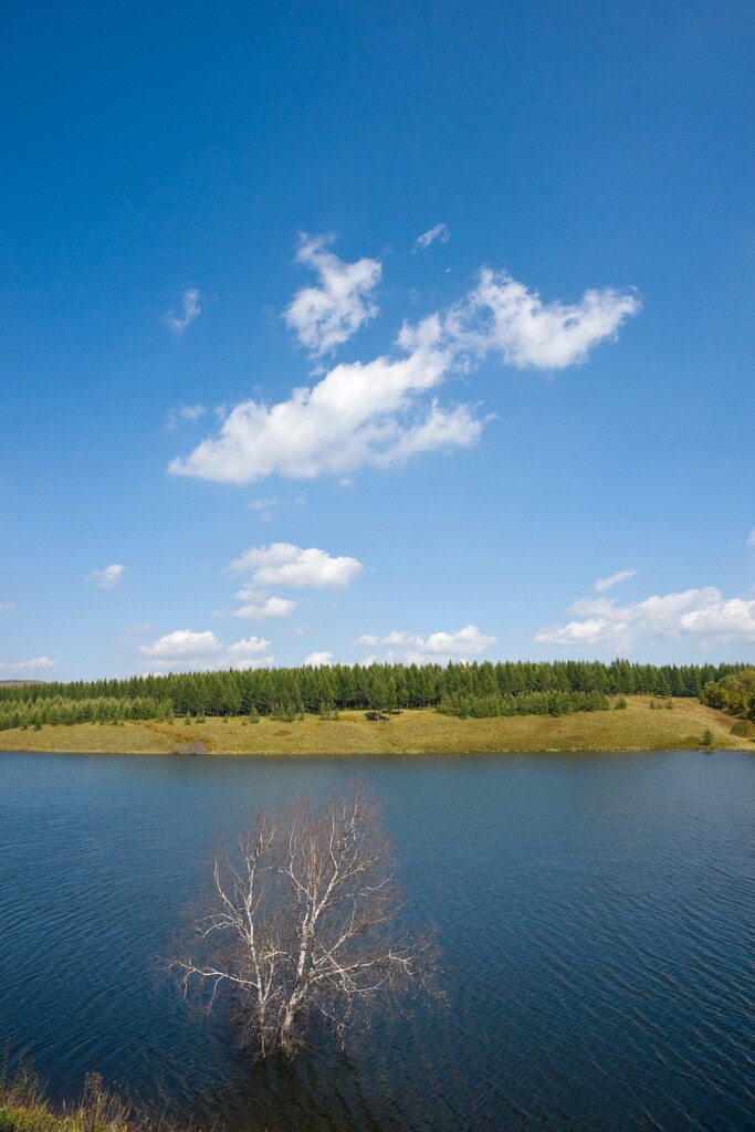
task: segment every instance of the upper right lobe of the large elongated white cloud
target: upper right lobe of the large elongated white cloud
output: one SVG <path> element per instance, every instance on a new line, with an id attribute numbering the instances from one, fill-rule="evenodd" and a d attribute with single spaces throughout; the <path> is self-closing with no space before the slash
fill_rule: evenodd
<path id="1" fill-rule="evenodd" d="M 460 342 L 478 353 L 499 351 L 516 369 L 564 369 L 586 361 L 600 342 L 614 341 L 641 308 L 632 292 L 585 291 L 577 303 L 543 303 L 506 272 L 480 272 L 478 286 L 451 312 Z"/>

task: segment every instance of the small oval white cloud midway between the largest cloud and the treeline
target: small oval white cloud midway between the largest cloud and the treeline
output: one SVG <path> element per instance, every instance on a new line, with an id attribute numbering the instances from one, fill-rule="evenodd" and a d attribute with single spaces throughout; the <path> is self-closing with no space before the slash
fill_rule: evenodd
<path id="1" fill-rule="evenodd" d="M 273 542 L 269 547 L 252 547 L 230 563 L 230 574 L 248 574 L 251 585 L 260 589 L 283 585 L 301 589 L 324 589 L 349 585 L 363 571 L 355 558 L 333 558 L 327 551 L 309 547 L 303 550 L 291 542 Z"/>

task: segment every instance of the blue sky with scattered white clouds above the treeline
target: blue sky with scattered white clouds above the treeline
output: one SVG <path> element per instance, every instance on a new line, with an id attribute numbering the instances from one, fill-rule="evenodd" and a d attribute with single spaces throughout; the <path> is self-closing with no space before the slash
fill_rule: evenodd
<path id="1" fill-rule="evenodd" d="M 0 3 L 0 678 L 755 661 L 754 33 Z"/>

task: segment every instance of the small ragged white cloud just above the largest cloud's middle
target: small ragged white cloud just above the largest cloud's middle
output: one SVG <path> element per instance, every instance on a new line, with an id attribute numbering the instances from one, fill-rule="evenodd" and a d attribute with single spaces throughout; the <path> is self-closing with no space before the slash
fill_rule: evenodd
<path id="1" fill-rule="evenodd" d="M 332 240 L 333 235 L 301 237 L 297 259 L 317 272 L 320 282 L 297 291 L 283 316 L 316 357 L 341 345 L 377 314 L 372 291 L 380 280 L 380 261 L 346 264 L 326 250 Z"/>

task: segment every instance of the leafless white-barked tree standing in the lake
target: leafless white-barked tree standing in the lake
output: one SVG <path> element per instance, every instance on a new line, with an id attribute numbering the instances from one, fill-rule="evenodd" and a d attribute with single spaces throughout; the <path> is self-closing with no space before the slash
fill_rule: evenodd
<path id="1" fill-rule="evenodd" d="M 317 1020 L 343 1037 L 397 995 L 431 987 L 431 942 L 397 925 L 402 890 L 379 806 L 359 784 L 320 809 L 261 813 L 171 961 L 208 1006 L 230 992 L 259 1058 L 292 1057 Z"/>

